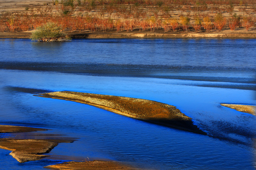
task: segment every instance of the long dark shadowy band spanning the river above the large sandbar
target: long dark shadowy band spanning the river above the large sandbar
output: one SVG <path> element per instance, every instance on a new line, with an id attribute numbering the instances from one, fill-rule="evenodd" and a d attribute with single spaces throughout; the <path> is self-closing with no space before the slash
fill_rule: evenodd
<path id="1" fill-rule="evenodd" d="M 181 80 L 183 85 L 255 90 L 254 68 L 125 65 L 95 63 L 0 62 L 0 69 L 50 71 L 109 77 Z M 204 74 L 202 74 L 202 72 Z M 248 74 L 250 73 L 250 74 Z M 228 75 L 227 75 L 228 74 Z M 186 82 L 189 81 L 189 82 Z"/>

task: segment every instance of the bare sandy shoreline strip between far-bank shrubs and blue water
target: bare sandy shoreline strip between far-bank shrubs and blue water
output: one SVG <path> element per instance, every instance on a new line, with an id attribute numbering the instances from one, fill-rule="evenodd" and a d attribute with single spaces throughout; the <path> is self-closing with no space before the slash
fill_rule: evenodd
<path id="1" fill-rule="evenodd" d="M 32 32 L 0 32 L 0 39 L 29 39 Z M 224 38 L 224 39 L 256 39 L 256 32 L 156 32 L 132 31 L 132 32 L 67 32 L 73 39 L 134 39 L 134 38 Z"/>

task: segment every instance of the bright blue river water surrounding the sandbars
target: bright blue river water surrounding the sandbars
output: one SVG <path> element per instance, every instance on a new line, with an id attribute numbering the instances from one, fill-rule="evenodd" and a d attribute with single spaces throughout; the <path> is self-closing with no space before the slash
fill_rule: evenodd
<path id="1" fill-rule="evenodd" d="M 100 159 L 154 170 L 253 170 L 256 117 L 220 103 L 255 105 L 255 46 L 255 39 L 0 39 L 0 124 L 77 138 L 26 163 L 1 149 L 0 169 Z M 63 90 L 171 104 L 208 135 L 33 96 Z"/>

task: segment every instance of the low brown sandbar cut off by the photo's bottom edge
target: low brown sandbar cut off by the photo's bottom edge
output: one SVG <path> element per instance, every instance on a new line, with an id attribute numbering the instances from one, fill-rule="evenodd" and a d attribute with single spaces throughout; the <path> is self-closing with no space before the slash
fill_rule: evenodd
<path id="1" fill-rule="evenodd" d="M 45 168 L 59 170 L 142 170 L 120 162 L 99 160 L 87 162 L 65 162 L 62 164 L 45 166 Z"/>

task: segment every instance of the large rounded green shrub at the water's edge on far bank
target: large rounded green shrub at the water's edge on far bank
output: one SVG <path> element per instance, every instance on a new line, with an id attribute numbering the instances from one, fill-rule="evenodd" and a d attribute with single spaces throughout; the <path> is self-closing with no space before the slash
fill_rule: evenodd
<path id="1" fill-rule="evenodd" d="M 66 33 L 60 32 L 61 26 L 56 23 L 48 22 L 36 28 L 30 39 L 35 41 L 66 41 L 70 38 Z"/>

